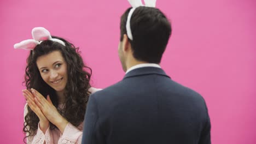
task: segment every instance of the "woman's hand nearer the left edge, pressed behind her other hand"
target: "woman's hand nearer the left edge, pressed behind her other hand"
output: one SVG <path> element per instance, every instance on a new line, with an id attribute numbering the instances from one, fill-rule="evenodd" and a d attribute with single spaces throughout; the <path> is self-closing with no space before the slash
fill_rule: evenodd
<path id="1" fill-rule="evenodd" d="M 35 103 L 33 94 L 27 89 L 22 90 L 22 92 L 24 97 L 27 99 L 28 106 L 30 106 L 30 109 L 38 116 L 40 130 L 42 130 L 45 134 L 46 130 L 49 128 L 50 125 L 48 119 L 44 116 L 40 108 Z"/>

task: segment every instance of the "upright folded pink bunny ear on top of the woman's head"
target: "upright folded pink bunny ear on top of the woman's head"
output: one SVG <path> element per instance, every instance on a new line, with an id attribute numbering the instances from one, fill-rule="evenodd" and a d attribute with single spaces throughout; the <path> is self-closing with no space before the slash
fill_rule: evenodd
<path id="1" fill-rule="evenodd" d="M 36 41 L 51 40 L 50 32 L 44 27 L 35 27 L 32 29 L 32 37 Z"/>

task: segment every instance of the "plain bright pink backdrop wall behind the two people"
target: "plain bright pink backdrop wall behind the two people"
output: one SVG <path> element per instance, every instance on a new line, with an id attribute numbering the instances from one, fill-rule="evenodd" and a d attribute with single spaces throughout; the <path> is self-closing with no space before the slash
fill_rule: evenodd
<path id="1" fill-rule="evenodd" d="M 254 0 L 159 0 L 172 38 L 161 66 L 173 80 L 206 99 L 212 143 L 256 143 Z M 0 143 L 22 143 L 22 81 L 28 51 L 13 44 L 42 26 L 79 46 L 104 88 L 124 76 L 118 58 L 119 17 L 129 3 L 114 1 L 0 1 Z"/>

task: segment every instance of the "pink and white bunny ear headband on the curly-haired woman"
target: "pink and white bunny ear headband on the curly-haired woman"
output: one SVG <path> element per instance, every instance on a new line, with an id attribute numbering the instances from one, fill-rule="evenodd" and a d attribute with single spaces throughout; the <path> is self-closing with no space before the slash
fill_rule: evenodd
<path id="1" fill-rule="evenodd" d="M 34 47 L 42 43 L 44 40 L 56 41 L 57 43 L 66 46 L 62 40 L 51 38 L 50 32 L 43 27 L 35 27 L 32 29 L 32 37 L 33 39 L 23 40 L 18 44 L 14 45 L 14 49 L 25 49 L 25 50 L 33 50 Z"/>

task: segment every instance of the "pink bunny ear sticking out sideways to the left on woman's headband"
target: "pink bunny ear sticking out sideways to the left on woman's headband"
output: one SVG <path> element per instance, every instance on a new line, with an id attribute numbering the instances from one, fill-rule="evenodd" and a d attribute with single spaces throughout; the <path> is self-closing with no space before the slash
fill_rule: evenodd
<path id="1" fill-rule="evenodd" d="M 34 39 L 27 39 L 15 44 L 14 49 L 33 50 L 38 44 L 39 42 Z"/>

